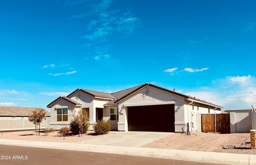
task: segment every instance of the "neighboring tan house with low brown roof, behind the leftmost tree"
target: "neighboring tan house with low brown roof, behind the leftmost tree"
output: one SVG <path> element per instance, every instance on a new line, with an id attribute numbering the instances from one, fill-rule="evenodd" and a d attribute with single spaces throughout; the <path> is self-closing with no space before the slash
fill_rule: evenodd
<path id="1" fill-rule="evenodd" d="M 19 107 L 19 106 L 0 106 L 0 130 L 31 129 L 35 128 L 32 122 L 29 122 L 28 116 L 37 108 Z M 50 118 L 50 112 L 46 111 L 46 117 Z M 46 121 L 40 124 L 45 128 Z"/>

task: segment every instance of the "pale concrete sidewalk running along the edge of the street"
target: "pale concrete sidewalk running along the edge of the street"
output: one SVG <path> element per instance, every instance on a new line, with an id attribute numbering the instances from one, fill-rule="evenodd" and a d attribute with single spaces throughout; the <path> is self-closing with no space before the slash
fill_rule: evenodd
<path id="1" fill-rule="evenodd" d="M 185 151 L 176 149 L 156 149 L 144 147 L 124 147 L 114 145 L 95 145 L 82 143 L 58 143 L 44 141 L 24 141 L 0 139 L 2 145 L 18 145 L 24 147 L 40 147 L 52 149 L 65 149 L 73 151 L 87 151 L 98 153 L 112 153 L 120 155 L 133 155 L 142 157 L 155 157 L 182 161 L 195 161 L 203 163 L 218 163 L 228 165 L 256 165 L 256 155 L 217 153 L 201 151 Z"/>

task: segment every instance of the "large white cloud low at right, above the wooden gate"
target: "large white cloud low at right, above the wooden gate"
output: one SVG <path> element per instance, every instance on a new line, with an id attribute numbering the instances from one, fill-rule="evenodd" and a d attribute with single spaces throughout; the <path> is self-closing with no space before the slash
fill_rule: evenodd
<path id="1" fill-rule="evenodd" d="M 251 105 L 256 104 L 256 78 L 251 75 L 225 77 L 184 94 L 223 106 L 224 110 L 251 109 Z"/>

